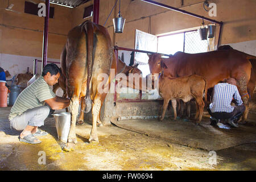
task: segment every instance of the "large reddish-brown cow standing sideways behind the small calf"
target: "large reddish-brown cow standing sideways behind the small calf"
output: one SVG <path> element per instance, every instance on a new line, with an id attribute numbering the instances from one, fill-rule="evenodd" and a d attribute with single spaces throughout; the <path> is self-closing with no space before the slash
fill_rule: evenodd
<path id="1" fill-rule="evenodd" d="M 175 55 L 166 59 L 157 53 L 148 56 L 151 73 L 159 73 L 160 61 L 163 60 L 168 67 L 164 69 L 165 76 L 182 77 L 193 74 L 203 76 L 207 80 L 207 89 L 212 88 L 224 78 L 236 78 L 237 88 L 243 104 L 246 105 L 242 121 L 247 119 L 249 105 L 247 84 L 251 75 L 251 63 L 244 53 L 236 50 L 219 50 L 195 54 L 176 52 Z M 207 96 L 207 89 L 205 89 L 205 96 Z"/>

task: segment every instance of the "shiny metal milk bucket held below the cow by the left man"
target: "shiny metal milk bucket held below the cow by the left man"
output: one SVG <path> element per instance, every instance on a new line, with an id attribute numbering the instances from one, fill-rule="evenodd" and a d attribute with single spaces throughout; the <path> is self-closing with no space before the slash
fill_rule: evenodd
<path id="1" fill-rule="evenodd" d="M 68 112 L 53 114 L 57 129 L 58 139 L 67 143 L 71 123 L 71 114 Z"/>

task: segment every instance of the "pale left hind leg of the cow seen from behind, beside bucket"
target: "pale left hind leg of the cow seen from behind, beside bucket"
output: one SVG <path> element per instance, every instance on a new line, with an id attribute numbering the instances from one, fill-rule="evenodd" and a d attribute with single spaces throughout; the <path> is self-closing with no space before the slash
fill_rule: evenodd
<path id="1" fill-rule="evenodd" d="M 68 143 L 65 144 L 63 150 L 71 151 L 75 149 L 76 139 L 76 117 L 79 111 L 79 96 L 74 93 L 71 102 L 69 104 L 69 110 L 71 111 L 71 126 L 68 134 Z"/>

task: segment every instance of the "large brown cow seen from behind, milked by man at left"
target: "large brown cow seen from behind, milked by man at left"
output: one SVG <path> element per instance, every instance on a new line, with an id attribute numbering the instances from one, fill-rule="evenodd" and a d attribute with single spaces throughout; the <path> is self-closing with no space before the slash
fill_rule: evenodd
<path id="1" fill-rule="evenodd" d="M 100 92 L 98 86 L 102 78 L 107 77 L 104 86 L 110 82 L 110 68 L 112 68 L 113 47 L 108 30 L 90 21 L 85 21 L 68 32 L 67 42 L 61 53 L 61 69 L 66 79 L 68 96 L 71 97 L 69 110 L 71 111 L 71 127 L 68 142 L 63 150 L 70 151 L 77 143 L 76 117 L 79 100 L 85 97 L 86 113 L 92 109 L 92 130 L 89 142 L 98 142 L 97 119 L 106 93 Z M 113 65 L 114 68 L 117 65 Z M 116 69 L 115 69 L 116 70 Z"/>

